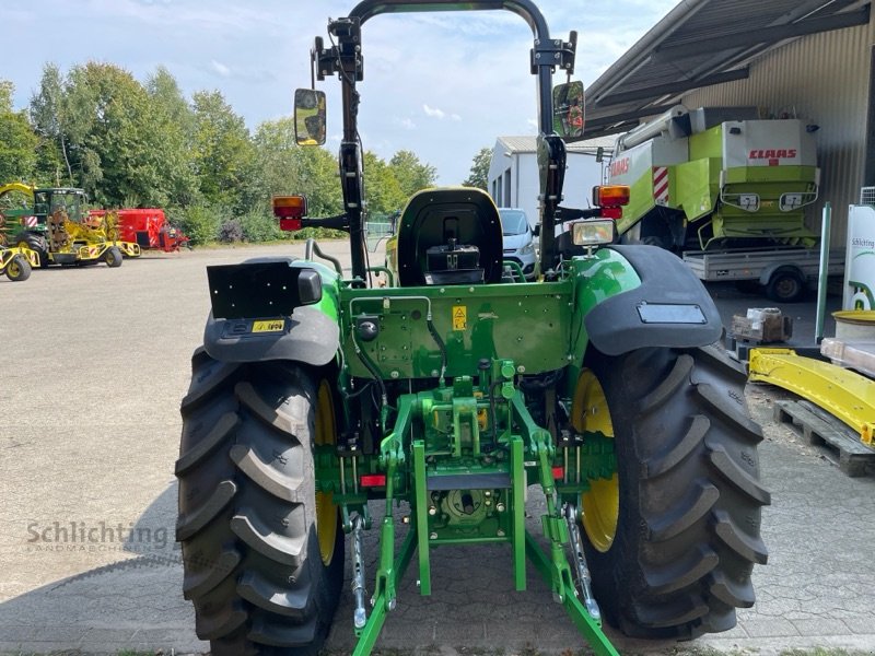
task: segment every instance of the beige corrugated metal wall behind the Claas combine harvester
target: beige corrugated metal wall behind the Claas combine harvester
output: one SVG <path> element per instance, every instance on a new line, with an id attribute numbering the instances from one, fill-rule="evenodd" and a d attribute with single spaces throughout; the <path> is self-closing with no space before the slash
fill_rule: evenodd
<path id="1" fill-rule="evenodd" d="M 752 62 L 749 79 L 684 97 L 690 108 L 755 105 L 774 115 L 795 113 L 820 126 L 820 199 L 808 213 L 808 224 L 819 233 L 824 202 L 830 201 L 833 248 L 845 245 L 848 206 L 859 201 L 863 184 L 873 44 L 873 21 L 806 36 Z"/>

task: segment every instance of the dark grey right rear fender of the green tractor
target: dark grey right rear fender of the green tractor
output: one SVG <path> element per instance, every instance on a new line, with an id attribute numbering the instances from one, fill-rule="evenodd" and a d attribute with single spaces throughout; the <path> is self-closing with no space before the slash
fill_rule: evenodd
<path id="1" fill-rule="evenodd" d="M 611 246 L 641 284 L 598 303 L 584 318 L 590 342 L 606 355 L 645 347 L 703 347 L 723 323 L 704 285 L 674 254 L 656 246 Z"/>

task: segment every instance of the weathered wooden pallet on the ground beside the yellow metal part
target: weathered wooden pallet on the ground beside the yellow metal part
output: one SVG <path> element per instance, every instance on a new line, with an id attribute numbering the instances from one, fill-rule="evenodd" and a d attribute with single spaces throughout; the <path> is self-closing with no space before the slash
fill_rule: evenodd
<path id="1" fill-rule="evenodd" d="M 774 420 L 792 423 L 803 438 L 814 446 L 824 446 L 839 455 L 839 469 L 851 477 L 875 471 L 875 449 L 860 442 L 848 425 L 806 401 L 778 401 Z"/>

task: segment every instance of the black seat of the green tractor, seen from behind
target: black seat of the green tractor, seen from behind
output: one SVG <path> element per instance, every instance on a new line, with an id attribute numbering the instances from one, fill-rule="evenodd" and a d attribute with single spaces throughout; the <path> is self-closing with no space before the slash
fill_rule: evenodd
<path id="1" fill-rule="evenodd" d="M 401 213 L 401 286 L 498 283 L 502 255 L 501 219 L 481 189 L 427 189 Z"/>

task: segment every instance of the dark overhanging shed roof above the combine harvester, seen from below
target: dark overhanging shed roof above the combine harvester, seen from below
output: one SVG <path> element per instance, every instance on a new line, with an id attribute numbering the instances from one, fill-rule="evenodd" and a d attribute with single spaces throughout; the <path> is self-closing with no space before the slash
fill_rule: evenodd
<path id="1" fill-rule="evenodd" d="M 584 136 L 629 130 L 687 92 L 746 79 L 791 39 L 868 19 L 870 0 L 680 0 L 586 90 Z"/>

